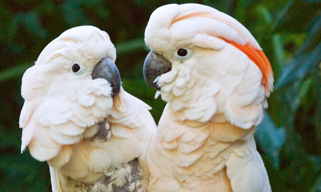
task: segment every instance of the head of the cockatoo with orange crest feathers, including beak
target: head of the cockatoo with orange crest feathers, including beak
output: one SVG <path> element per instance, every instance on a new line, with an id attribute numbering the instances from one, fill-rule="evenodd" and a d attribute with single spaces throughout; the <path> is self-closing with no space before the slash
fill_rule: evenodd
<path id="1" fill-rule="evenodd" d="M 220 113 L 229 118 L 235 105 L 247 106 L 255 98 L 265 103 L 273 90 L 271 65 L 256 39 L 237 20 L 212 7 L 161 6 L 150 17 L 144 40 L 151 49 L 144 63 L 145 81 L 173 110 L 195 109 L 184 112 L 182 120 L 207 121 Z M 255 96 L 232 99 L 238 88 L 246 87 L 255 89 Z"/>

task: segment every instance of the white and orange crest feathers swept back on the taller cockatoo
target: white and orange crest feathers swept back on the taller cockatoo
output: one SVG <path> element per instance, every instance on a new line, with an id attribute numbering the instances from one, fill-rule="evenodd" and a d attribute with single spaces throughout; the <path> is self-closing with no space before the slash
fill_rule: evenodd
<path id="1" fill-rule="evenodd" d="M 171 10 L 172 12 L 170 12 Z M 160 18 L 166 18 L 167 16 L 171 17 L 171 20 L 167 24 L 155 24 Z M 163 22 L 164 21 L 166 20 L 163 20 Z M 153 27 L 159 28 L 153 29 Z M 164 30 L 164 28 L 166 28 L 167 31 Z M 175 34 L 181 33 L 182 30 L 180 29 L 184 29 L 186 31 L 184 33 L 188 35 Z M 162 32 L 156 32 L 156 30 Z M 206 40 L 195 38 L 199 34 L 220 38 L 246 54 L 261 70 L 263 75 L 262 84 L 265 87 L 266 95 L 269 96 L 273 90 L 273 72 L 270 62 L 263 53 L 262 48 L 240 22 L 212 7 L 201 4 L 168 4 L 156 9 L 154 13 L 152 13 L 146 27 L 145 42 L 150 48 L 156 51 L 157 49 L 162 49 L 159 45 L 166 45 L 163 46 L 163 49 L 166 50 L 168 49 L 168 44 L 174 47 L 179 46 L 179 42 L 182 42 L 182 40 L 184 40 L 185 44 L 189 39 L 190 44 L 195 44 L 195 39 L 200 41 Z M 206 37 L 206 35 L 204 37 Z M 157 41 L 160 42 L 157 43 Z M 162 50 L 160 50 L 160 52 L 162 52 Z"/>

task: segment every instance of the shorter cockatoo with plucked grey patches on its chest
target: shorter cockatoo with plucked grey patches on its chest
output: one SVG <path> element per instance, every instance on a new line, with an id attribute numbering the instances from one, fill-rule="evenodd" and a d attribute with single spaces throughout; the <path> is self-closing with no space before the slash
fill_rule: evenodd
<path id="1" fill-rule="evenodd" d="M 51 41 L 22 77 L 21 151 L 29 145 L 48 162 L 54 192 L 144 190 L 156 124 L 123 90 L 115 59 L 105 31 L 80 26 Z"/>

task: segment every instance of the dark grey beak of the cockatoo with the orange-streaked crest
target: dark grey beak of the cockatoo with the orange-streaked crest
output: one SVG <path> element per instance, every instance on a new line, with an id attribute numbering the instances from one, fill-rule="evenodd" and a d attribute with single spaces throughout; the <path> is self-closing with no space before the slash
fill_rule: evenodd
<path id="1" fill-rule="evenodd" d="M 167 73 L 172 70 L 172 64 L 165 59 L 162 55 L 155 51 L 150 51 L 144 62 L 144 79 L 145 82 L 152 88 L 160 91 L 157 82 L 153 82 L 153 77 L 158 77 L 161 74 Z"/>

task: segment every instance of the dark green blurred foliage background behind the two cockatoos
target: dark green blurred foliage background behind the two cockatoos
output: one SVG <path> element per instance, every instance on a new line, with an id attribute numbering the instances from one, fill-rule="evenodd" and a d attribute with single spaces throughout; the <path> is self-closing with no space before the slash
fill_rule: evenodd
<path id="1" fill-rule="evenodd" d="M 20 154 L 23 72 L 63 31 L 94 25 L 116 46 L 124 89 L 152 106 L 165 106 L 143 81 L 149 16 L 169 3 L 201 3 L 231 15 L 269 58 L 275 89 L 256 131 L 273 191 L 321 191 L 321 1 L 28 0 L 0 2 L 0 191 L 50 191 L 46 162 Z"/>

